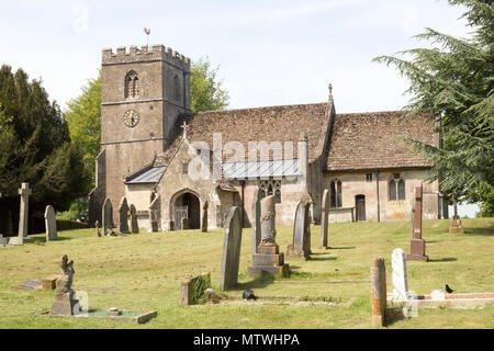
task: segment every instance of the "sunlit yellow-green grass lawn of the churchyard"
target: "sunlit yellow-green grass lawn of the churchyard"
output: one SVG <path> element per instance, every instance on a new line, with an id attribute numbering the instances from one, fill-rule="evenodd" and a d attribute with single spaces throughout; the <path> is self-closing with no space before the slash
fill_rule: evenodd
<path id="1" fill-rule="evenodd" d="M 494 218 L 462 219 L 464 235 L 448 233 L 450 220 L 425 220 L 423 238 L 430 262 L 407 262 L 408 286 L 417 294 L 449 284 L 454 293 L 494 293 Z M 277 241 L 285 251 L 292 228 L 278 227 Z M 287 261 L 290 279 L 254 280 L 250 229 L 244 229 L 239 286 L 258 296 L 334 299 L 350 307 L 217 304 L 180 306 L 180 282 L 211 272 L 220 282 L 223 230 L 151 233 L 128 237 L 93 237 L 94 229 L 59 231 L 60 240 L 0 249 L 0 328 L 373 328 L 370 309 L 370 262 L 385 258 L 388 291 L 392 291 L 391 252 L 409 251 L 409 222 L 330 224 L 328 244 L 318 249 L 319 227 L 312 230 L 312 259 Z M 157 310 L 145 325 L 98 318 L 37 316 L 49 310 L 54 292 L 14 290 L 12 284 L 58 273 L 58 261 L 74 259 L 75 291 L 86 291 L 89 307 L 116 306 L 127 310 Z M 329 281 L 345 281 L 328 283 Z M 388 328 L 494 328 L 494 308 L 419 309 L 418 317 L 396 320 Z"/>

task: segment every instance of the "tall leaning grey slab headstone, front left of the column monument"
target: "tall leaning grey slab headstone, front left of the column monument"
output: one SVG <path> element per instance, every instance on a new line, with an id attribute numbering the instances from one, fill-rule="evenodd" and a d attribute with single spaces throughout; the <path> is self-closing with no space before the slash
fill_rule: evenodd
<path id="1" fill-rule="evenodd" d="M 223 257 L 220 273 L 221 290 L 234 287 L 238 282 L 242 244 L 242 215 L 238 206 L 233 206 L 229 210 L 224 233 Z"/>

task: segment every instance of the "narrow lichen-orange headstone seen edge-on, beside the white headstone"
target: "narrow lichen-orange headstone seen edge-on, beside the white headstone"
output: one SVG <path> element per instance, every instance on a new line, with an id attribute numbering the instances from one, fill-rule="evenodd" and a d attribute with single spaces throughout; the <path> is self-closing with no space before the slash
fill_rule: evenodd
<path id="1" fill-rule="evenodd" d="M 372 322 L 384 327 L 386 324 L 386 269 L 382 257 L 371 262 L 371 308 Z"/>

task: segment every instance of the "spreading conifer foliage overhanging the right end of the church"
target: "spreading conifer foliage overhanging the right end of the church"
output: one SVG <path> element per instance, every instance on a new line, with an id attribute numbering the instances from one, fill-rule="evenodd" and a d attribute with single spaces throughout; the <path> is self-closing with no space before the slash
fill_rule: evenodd
<path id="1" fill-rule="evenodd" d="M 408 78 L 406 92 L 413 97 L 404 107 L 408 117 L 428 114 L 439 126 L 442 147 L 408 140 L 435 163 L 437 172 L 428 180 L 438 179 L 446 194 L 494 208 L 494 5 L 479 0 L 449 3 L 467 7 L 463 18 L 473 29 L 471 37 L 426 29 L 416 37 L 431 43 L 431 48 L 374 60 L 394 66 Z"/>

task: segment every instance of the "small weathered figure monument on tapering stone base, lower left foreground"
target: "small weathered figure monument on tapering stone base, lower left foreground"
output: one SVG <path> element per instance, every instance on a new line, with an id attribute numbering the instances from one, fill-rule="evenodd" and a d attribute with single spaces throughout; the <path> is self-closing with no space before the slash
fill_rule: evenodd
<path id="1" fill-rule="evenodd" d="M 76 292 L 72 291 L 74 261 L 68 260 L 67 254 L 61 257 L 61 273 L 56 281 L 55 302 L 52 305 L 49 315 L 72 316 L 80 313 L 79 301 L 76 299 Z"/>

